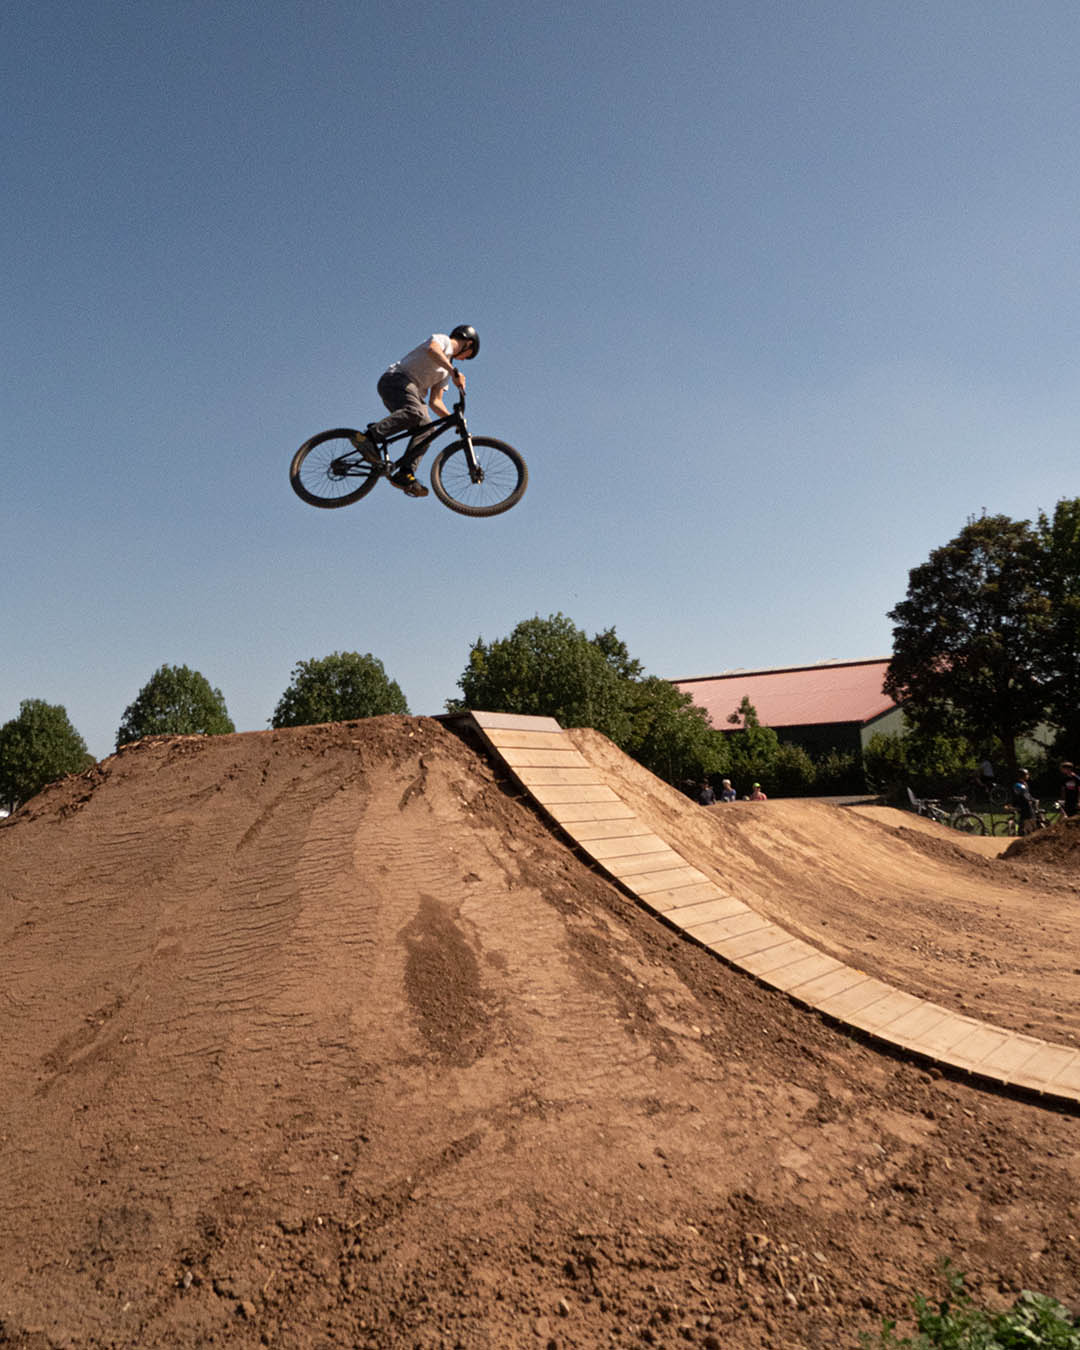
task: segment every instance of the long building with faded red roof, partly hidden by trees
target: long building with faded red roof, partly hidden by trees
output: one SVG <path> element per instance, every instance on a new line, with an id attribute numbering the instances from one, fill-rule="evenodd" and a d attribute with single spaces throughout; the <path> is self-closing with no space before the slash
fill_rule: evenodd
<path id="1" fill-rule="evenodd" d="M 900 734 L 903 714 L 883 693 L 888 657 L 824 662 L 776 670 L 724 671 L 672 680 L 709 714 L 720 732 L 742 725 L 738 707 L 748 698 L 761 726 L 811 755 L 830 749 L 861 753 L 871 736 Z"/>

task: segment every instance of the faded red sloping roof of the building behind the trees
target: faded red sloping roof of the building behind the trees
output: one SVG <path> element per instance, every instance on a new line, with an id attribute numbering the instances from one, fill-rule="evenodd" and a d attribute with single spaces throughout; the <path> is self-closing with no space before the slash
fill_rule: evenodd
<path id="1" fill-rule="evenodd" d="M 744 698 L 753 703 L 763 726 L 814 726 L 834 722 L 865 724 L 896 703 L 882 693 L 888 659 L 826 662 L 784 670 L 725 671 L 695 679 L 672 680 L 709 713 L 717 730 L 729 730 L 732 713 Z"/>

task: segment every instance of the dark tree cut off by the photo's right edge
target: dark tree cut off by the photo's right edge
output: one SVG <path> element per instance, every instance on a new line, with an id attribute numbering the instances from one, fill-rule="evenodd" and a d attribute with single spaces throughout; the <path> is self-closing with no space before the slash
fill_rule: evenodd
<path id="1" fill-rule="evenodd" d="M 1040 513 L 1037 539 L 1049 616 L 1038 644 L 1038 674 L 1056 748 L 1080 756 L 1080 497 Z"/>

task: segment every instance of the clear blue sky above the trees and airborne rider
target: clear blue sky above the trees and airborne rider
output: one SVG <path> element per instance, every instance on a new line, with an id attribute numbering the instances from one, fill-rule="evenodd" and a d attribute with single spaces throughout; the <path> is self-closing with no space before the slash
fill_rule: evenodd
<path id="1" fill-rule="evenodd" d="M 649 674 L 890 651 L 907 572 L 1080 491 L 1075 0 L 9 0 L 0 722 L 162 663 L 414 713 L 562 610 Z M 474 323 L 473 521 L 294 448 Z"/>

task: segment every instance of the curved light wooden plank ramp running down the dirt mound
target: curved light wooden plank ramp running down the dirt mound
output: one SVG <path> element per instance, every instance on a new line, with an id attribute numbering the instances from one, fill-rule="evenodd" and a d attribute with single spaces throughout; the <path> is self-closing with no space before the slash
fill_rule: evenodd
<path id="1" fill-rule="evenodd" d="M 593 861 L 647 909 L 796 1003 L 976 1079 L 1080 1103 L 1080 1049 L 950 1013 L 794 937 L 653 834 L 551 717 L 467 717 L 490 752 Z"/>

